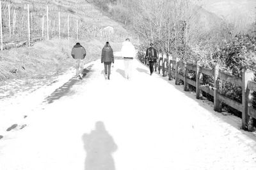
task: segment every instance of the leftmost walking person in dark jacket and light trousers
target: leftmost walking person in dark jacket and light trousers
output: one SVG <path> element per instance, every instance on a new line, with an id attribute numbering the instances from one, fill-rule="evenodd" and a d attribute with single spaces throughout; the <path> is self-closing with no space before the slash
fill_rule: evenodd
<path id="1" fill-rule="evenodd" d="M 76 43 L 72 48 L 71 55 L 76 60 L 77 79 L 83 79 L 83 59 L 86 56 L 86 50 L 80 43 Z"/>

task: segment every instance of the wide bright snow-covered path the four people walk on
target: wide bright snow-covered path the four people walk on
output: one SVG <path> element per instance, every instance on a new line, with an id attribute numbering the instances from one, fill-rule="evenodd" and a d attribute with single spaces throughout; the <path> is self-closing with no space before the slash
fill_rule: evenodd
<path id="1" fill-rule="evenodd" d="M 127 81 L 123 60 L 116 60 L 106 81 L 102 64 L 92 62 L 84 80 L 56 90 L 28 117 L 28 127 L 0 141 L 0 169 L 82 170 L 82 136 L 97 121 L 116 143 L 117 170 L 256 168 L 256 138 L 239 129 L 238 118 L 214 112 L 167 78 L 150 76 L 138 61 L 133 67 Z"/>

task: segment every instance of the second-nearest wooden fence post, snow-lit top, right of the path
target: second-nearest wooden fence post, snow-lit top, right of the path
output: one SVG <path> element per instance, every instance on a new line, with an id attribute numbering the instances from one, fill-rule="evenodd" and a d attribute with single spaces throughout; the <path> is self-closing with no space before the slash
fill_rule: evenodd
<path id="1" fill-rule="evenodd" d="M 219 74 L 219 66 L 216 65 L 214 67 L 214 111 L 221 112 L 221 102 L 220 102 L 219 96 L 218 96 L 218 90 L 219 90 L 219 86 L 220 86 L 218 74 Z"/>

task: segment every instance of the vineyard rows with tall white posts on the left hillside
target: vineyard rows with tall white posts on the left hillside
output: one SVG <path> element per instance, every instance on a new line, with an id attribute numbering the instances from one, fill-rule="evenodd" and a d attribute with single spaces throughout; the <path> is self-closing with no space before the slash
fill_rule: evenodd
<path id="1" fill-rule="evenodd" d="M 92 6 L 84 4 L 83 0 L 64 0 L 59 6 L 48 6 L 47 4 L 51 3 L 48 0 L 29 0 L 28 2 L 31 4 L 0 0 L 1 50 L 29 46 L 35 41 L 54 37 L 97 38 L 108 39 L 108 41 L 127 37 L 124 32 L 115 31 L 113 35 L 102 30 L 102 27 L 90 24 L 93 18 L 102 17 L 102 14 L 93 10 Z M 88 18 L 79 17 L 82 15 Z"/>

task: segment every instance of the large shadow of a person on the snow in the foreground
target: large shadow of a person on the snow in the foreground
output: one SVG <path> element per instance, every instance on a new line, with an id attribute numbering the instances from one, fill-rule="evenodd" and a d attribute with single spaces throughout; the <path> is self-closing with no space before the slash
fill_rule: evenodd
<path id="1" fill-rule="evenodd" d="M 86 151 L 85 170 L 115 170 L 112 153 L 117 150 L 113 138 L 103 122 L 96 122 L 95 130 L 83 135 Z"/>

